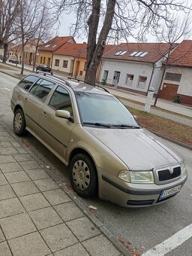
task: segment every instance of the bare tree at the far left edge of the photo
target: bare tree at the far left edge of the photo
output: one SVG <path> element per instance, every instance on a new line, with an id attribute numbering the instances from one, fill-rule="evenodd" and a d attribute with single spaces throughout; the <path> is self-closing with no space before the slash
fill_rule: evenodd
<path id="1" fill-rule="evenodd" d="M 0 0 L 0 47 L 4 47 L 3 62 L 7 59 L 8 39 L 13 34 L 13 22 L 18 14 L 18 0 Z"/>

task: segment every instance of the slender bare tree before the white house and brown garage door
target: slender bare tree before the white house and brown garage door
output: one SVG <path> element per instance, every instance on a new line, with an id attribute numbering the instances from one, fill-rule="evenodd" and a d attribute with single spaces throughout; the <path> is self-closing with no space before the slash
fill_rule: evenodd
<path id="1" fill-rule="evenodd" d="M 163 78 L 166 73 L 166 69 L 169 69 L 169 66 L 174 65 L 174 62 L 177 62 L 178 59 L 172 59 L 171 53 L 175 49 L 178 41 L 184 40 L 186 37 L 191 35 L 191 28 L 190 28 L 190 15 L 187 14 L 184 18 L 181 17 L 172 17 L 172 20 L 167 24 L 167 26 L 163 26 L 161 29 L 158 29 L 155 32 L 157 37 L 157 41 L 166 42 L 169 44 L 169 50 L 166 54 L 160 53 L 163 56 L 163 66 L 161 70 L 163 70 L 162 77 L 160 79 L 160 85 L 157 90 L 157 94 L 154 99 L 154 106 L 157 104 L 157 99 L 160 96 L 160 88 L 163 84 Z M 190 49 L 189 49 L 190 50 Z M 186 53 L 183 53 L 179 56 L 179 59 L 183 58 Z"/>

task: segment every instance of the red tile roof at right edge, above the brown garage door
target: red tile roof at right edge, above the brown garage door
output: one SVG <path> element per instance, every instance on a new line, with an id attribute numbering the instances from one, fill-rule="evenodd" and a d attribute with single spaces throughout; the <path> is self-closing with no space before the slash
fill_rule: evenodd
<path id="1" fill-rule="evenodd" d="M 184 40 L 169 56 L 170 66 L 192 67 L 192 40 Z"/>

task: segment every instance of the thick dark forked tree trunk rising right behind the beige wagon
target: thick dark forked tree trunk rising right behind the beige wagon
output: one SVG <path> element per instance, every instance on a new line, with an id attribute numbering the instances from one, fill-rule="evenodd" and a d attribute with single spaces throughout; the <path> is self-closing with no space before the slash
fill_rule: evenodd
<path id="1" fill-rule="evenodd" d="M 99 15 L 101 8 L 101 0 L 93 0 L 92 14 L 89 17 L 89 37 L 87 46 L 87 69 L 85 82 L 88 84 L 95 84 L 96 75 L 99 62 L 104 53 L 107 36 L 113 23 L 113 16 L 115 11 L 115 0 L 109 0 L 107 4 L 107 11 L 104 20 L 104 25 L 101 29 L 98 43 L 96 44 Z"/>

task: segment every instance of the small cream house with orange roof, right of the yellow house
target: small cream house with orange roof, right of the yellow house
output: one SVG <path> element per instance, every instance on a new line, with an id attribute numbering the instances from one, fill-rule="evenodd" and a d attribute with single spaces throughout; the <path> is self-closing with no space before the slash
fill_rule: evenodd
<path id="1" fill-rule="evenodd" d="M 73 75 L 75 56 L 87 47 L 86 43 L 66 43 L 55 50 L 52 59 L 52 70 L 64 75 Z"/>

